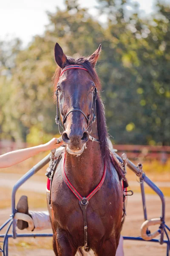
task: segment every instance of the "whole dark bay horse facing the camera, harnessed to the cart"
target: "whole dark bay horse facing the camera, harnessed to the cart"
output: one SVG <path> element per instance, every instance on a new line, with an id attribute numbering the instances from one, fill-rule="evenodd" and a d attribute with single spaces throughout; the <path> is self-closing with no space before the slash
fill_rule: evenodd
<path id="1" fill-rule="evenodd" d="M 119 243 L 123 191 L 110 158 L 105 111 L 97 93 L 101 85 L 95 64 L 100 52 L 101 45 L 90 57 L 74 59 L 55 45 L 59 68 L 54 90 L 66 145 L 51 185 L 57 256 L 75 256 L 84 246 L 96 256 L 115 256 Z"/>

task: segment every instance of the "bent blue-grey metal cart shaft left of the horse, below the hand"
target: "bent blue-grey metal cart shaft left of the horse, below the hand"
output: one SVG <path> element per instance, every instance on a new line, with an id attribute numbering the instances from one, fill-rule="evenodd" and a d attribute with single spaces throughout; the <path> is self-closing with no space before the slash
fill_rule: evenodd
<path id="1" fill-rule="evenodd" d="M 12 216 L 14 217 L 14 214 L 16 212 L 15 209 L 15 195 L 17 192 L 17 189 L 21 185 L 23 185 L 26 180 L 28 180 L 32 175 L 37 173 L 43 166 L 45 166 L 50 161 L 51 153 L 48 154 L 46 157 L 44 157 L 39 163 L 37 163 L 33 168 L 31 168 L 23 177 L 20 178 L 20 180 L 17 181 L 17 183 L 14 185 L 14 188 L 12 190 Z M 13 238 L 15 239 L 17 237 L 16 233 L 16 221 L 13 222 Z"/>

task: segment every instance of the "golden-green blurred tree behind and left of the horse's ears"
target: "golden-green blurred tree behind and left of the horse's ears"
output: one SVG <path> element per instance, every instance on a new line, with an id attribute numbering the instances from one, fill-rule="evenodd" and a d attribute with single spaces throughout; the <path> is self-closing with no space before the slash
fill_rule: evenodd
<path id="1" fill-rule="evenodd" d="M 50 23 L 45 36 L 36 36 L 31 45 L 17 55 L 11 84 L 15 89 L 11 97 L 11 114 L 17 113 L 24 127 L 34 125 L 45 133 L 56 134 L 51 82 L 57 67 L 54 45 L 57 41 L 67 55 L 74 55 L 78 49 L 80 54 L 88 55 L 99 46 L 104 34 L 99 23 L 86 9 L 77 6 L 76 1 L 67 2 L 65 11 L 57 9 L 54 14 L 48 13 L 48 17 Z"/>

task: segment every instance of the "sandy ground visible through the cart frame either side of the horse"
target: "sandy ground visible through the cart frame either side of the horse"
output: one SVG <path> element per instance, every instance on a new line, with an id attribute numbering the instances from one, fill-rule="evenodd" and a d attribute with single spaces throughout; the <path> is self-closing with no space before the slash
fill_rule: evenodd
<path id="1" fill-rule="evenodd" d="M 9 174 L 6 174 L 7 176 Z M 18 180 L 21 175 L 6 175 L 0 173 L 0 186 L 11 187 Z M 8 178 L 8 183 L 5 181 Z M 45 183 L 42 181 L 34 181 L 33 183 L 25 183 L 23 185 L 24 190 L 45 193 Z M 35 185 L 34 184 L 34 185 Z M 160 185 L 160 184 L 158 184 Z M 169 187 L 170 183 L 164 184 Z M 138 183 L 131 182 L 130 187 L 139 186 Z M 36 198 L 36 195 L 35 195 Z M 44 196 L 45 198 L 45 196 Z M 156 195 L 146 195 L 147 201 L 147 213 L 148 218 L 158 218 L 161 215 L 161 201 Z M 40 209 L 45 210 L 45 209 Z M 11 209 L 0 209 L 0 225 L 8 218 L 11 213 Z M 142 200 L 139 193 L 135 193 L 128 198 L 127 204 L 127 217 L 122 230 L 123 236 L 140 236 L 140 226 L 143 222 L 143 209 Z M 170 198 L 166 198 L 166 224 L 170 226 Z M 151 231 L 157 230 L 158 227 L 153 227 Z M 2 233 L 2 232 L 1 232 Z M 3 232 L 4 233 L 4 232 Z M 20 233 L 20 232 L 18 232 Z M 24 232 L 26 233 L 26 232 Z M 44 233 L 51 233 L 51 230 L 45 230 Z M 145 241 L 124 241 L 125 256 L 165 256 L 166 245 L 160 245 L 159 243 L 151 243 Z M 51 238 L 39 238 L 39 239 L 9 239 L 9 256 L 54 256 L 52 250 Z M 87 254 L 88 255 L 88 254 Z M 89 255 L 90 256 L 90 255 Z"/>

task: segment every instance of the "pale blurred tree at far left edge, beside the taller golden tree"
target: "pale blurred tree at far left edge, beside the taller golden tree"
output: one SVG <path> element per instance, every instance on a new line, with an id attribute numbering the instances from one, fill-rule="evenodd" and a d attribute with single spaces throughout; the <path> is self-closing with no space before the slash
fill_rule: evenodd
<path id="1" fill-rule="evenodd" d="M 0 139 L 21 139 L 24 137 L 24 127 L 17 118 L 11 114 L 11 97 L 13 70 L 16 68 L 15 59 L 20 52 L 21 41 L 18 38 L 0 41 Z"/>

